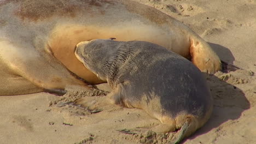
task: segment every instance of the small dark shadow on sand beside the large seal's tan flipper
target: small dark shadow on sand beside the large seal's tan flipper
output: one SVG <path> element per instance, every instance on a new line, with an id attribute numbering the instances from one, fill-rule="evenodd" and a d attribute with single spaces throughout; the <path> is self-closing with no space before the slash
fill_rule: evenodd
<path id="1" fill-rule="evenodd" d="M 233 64 L 235 61 L 235 57 L 232 55 L 232 52 L 227 48 L 219 44 L 209 43 L 208 44 L 212 47 L 213 51 L 217 53 L 219 58 L 222 61 L 228 62 Z"/>

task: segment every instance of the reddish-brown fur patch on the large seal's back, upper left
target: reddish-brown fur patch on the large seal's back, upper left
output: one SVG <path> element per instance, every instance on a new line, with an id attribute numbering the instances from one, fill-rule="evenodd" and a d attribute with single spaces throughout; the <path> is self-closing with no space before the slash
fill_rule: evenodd
<path id="1" fill-rule="evenodd" d="M 11 1 L 10 1 L 11 2 Z M 18 2 L 18 1 L 14 1 Z M 7 4 L 8 2 L 5 2 Z M 83 11 L 84 9 L 89 12 L 93 11 L 92 6 L 102 7 L 102 3 L 113 4 L 111 1 L 106 0 L 91 0 L 83 1 L 79 0 L 77 3 L 72 1 L 62 0 L 61 2 L 55 0 L 46 1 L 19 1 L 20 6 L 15 11 L 15 14 L 21 17 L 22 20 L 38 21 L 49 19 L 53 16 L 66 16 L 75 17 L 76 13 Z M 84 7 L 86 5 L 86 7 Z M 100 13 L 104 14 L 104 10 L 100 10 Z"/>

